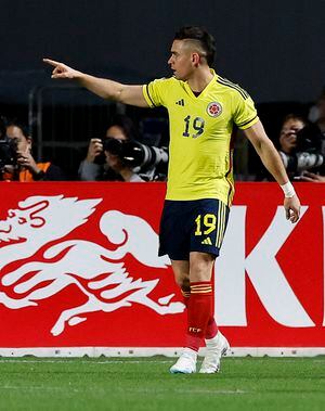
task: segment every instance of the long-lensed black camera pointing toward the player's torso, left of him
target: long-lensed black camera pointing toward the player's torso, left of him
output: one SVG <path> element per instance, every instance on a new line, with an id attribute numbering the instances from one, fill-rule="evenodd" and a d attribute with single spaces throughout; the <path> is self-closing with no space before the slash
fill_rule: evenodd
<path id="1" fill-rule="evenodd" d="M 139 141 L 126 141 L 109 137 L 103 140 L 103 147 L 117 155 L 126 165 L 139 167 L 142 171 L 168 163 L 167 147 L 156 147 Z"/>

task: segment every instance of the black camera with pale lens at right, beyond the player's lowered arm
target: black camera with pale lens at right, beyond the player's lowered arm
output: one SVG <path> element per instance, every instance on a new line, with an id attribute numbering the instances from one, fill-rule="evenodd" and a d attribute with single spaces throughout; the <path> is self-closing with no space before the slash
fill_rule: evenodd
<path id="1" fill-rule="evenodd" d="M 297 145 L 292 154 L 280 151 L 283 164 L 288 172 L 300 175 L 304 170 L 321 167 L 325 163 L 322 151 L 323 136 L 315 125 L 308 125 L 297 131 Z"/>

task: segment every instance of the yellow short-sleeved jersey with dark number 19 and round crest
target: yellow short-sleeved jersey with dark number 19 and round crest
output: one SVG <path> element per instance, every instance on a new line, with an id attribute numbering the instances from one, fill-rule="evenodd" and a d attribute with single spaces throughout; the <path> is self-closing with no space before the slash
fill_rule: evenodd
<path id="1" fill-rule="evenodd" d="M 218 76 L 196 97 L 174 77 L 143 86 L 150 107 L 169 114 L 170 144 L 167 200 L 219 198 L 231 205 L 234 194 L 232 131 L 258 121 L 251 98 Z"/>

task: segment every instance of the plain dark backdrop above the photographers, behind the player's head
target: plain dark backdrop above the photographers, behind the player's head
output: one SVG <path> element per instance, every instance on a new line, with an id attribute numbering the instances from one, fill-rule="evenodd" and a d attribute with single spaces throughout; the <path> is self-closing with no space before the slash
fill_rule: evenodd
<path id="1" fill-rule="evenodd" d="M 169 74 L 179 26 L 214 35 L 218 72 L 259 102 L 311 102 L 325 84 L 325 0 L 1 0 L 0 103 L 49 81 L 43 56 L 144 82 Z"/>

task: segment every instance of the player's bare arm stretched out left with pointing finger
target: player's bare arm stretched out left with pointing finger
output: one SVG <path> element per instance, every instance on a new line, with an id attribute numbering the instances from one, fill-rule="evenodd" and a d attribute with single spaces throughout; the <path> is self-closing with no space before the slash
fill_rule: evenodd
<path id="1" fill-rule="evenodd" d="M 50 59 L 43 59 L 43 62 L 54 67 L 52 78 L 77 80 L 82 87 L 86 87 L 103 99 L 114 100 L 138 107 L 148 106 L 142 93 L 142 86 L 122 85 L 105 78 L 93 77 Z"/>

